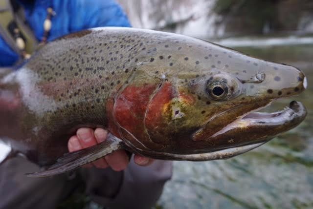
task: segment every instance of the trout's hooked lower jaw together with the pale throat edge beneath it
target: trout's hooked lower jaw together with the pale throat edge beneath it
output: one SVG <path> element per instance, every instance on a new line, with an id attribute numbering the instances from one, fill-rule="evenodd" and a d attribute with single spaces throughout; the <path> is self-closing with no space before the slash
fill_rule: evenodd
<path id="1" fill-rule="evenodd" d="M 164 155 L 168 155 L 168 157 L 174 160 L 189 161 L 231 158 L 261 146 L 277 134 L 299 125 L 307 114 L 304 105 L 296 101 L 292 101 L 289 106 L 277 112 L 256 112 L 257 110 L 241 116 L 210 137 L 217 141 L 225 141 L 226 139 L 224 148 L 200 154 L 164 153 Z"/>

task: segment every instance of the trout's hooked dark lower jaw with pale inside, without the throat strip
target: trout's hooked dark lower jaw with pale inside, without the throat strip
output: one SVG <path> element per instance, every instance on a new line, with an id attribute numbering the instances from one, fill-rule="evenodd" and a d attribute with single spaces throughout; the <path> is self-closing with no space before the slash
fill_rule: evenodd
<path id="1" fill-rule="evenodd" d="M 277 134 L 299 125 L 307 115 L 305 106 L 297 101 L 292 101 L 289 106 L 276 112 L 257 112 L 258 110 L 260 108 L 246 113 L 211 138 L 222 141 L 226 139 L 226 146 L 222 149 L 267 142 Z"/>

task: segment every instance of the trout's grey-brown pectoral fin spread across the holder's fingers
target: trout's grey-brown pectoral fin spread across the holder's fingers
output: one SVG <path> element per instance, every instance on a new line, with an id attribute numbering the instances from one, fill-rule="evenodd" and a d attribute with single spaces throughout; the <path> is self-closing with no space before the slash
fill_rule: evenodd
<path id="1" fill-rule="evenodd" d="M 124 142 L 113 135 L 109 135 L 106 141 L 85 149 L 64 154 L 57 163 L 44 171 L 26 174 L 29 177 L 46 177 L 74 170 L 101 157 L 104 157 L 118 149 L 126 148 Z"/>

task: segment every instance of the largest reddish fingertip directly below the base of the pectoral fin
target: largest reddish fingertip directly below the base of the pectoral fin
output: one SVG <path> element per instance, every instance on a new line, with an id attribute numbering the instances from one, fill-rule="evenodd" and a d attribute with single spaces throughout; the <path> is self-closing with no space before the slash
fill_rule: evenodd
<path id="1" fill-rule="evenodd" d="M 105 156 L 107 163 L 115 171 L 124 170 L 129 162 L 129 158 L 124 150 L 117 150 L 112 154 Z"/>

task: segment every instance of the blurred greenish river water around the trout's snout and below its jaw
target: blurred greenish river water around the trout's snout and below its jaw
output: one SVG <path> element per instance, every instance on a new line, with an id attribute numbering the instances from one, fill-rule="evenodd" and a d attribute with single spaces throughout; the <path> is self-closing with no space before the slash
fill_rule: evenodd
<path id="1" fill-rule="evenodd" d="M 242 40 L 250 40 L 251 44 L 242 44 Z M 243 53 L 304 71 L 308 79 L 306 91 L 275 101 L 264 111 L 277 111 L 297 100 L 308 109 L 305 121 L 267 144 L 228 160 L 174 162 L 173 178 L 156 208 L 313 208 L 313 42 L 300 44 L 299 38 L 298 44 L 296 39 L 292 43 L 262 44 L 269 40 L 272 38 L 227 42 Z"/>

